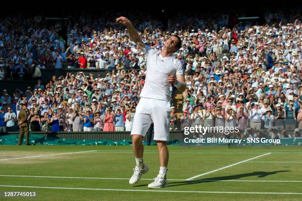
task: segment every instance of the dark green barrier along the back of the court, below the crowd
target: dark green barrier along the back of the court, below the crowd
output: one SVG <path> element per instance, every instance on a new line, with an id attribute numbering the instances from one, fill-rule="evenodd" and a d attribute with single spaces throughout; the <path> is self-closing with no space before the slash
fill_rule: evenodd
<path id="1" fill-rule="evenodd" d="M 125 137 L 125 138 L 123 138 Z M 16 145 L 18 143 L 18 134 L 2 134 L 0 135 L 0 145 Z M 87 133 L 43 133 L 30 134 L 30 143 L 34 145 L 132 145 L 130 132 L 87 132 Z M 147 139 L 143 142 L 147 144 Z M 25 139 L 23 139 L 25 144 Z M 169 145 L 229 145 L 229 146 L 244 146 L 244 145 L 274 145 L 274 143 L 184 143 L 182 135 L 178 132 L 170 133 Z M 151 141 L 151 145 L 155 145 Z M 302 138 L 281 138 L 279 145 L 302 145 Z"/>

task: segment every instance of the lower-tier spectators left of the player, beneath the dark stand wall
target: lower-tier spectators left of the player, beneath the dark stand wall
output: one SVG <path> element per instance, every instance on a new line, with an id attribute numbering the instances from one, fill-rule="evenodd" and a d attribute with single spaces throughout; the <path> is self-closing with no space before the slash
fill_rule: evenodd
<path id="1" fill-rule="evenodd" d="M 5 130 L 6 123 L 7 131 L 15 131 L 20 105 L 26 104 L 32 131 L 130 131 L 145 74 L 143 69 L 113 70 L 105 78 L 68 73 L 46 85 L 38 80 L 25 92 L 16 89 L 12 96 L 3 90 L 0 127 Z"/>

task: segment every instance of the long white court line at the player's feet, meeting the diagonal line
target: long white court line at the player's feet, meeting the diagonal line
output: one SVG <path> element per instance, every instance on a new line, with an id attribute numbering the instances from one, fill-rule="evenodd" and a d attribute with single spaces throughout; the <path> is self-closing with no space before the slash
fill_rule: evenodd
<path id="1" fill-rule="evenodd" d="M 105 178 L 105 177 L 60 177 L 60 176 L 31 176 L 31 175 L 0 175 L 0 177 L 33 177 L 33 178 L 59 178 L 59 179 L 100 179 L 100 180 L 129 180 L 129 178 Z M 141 179 L 154 180 L 154 179 Z M 215 180 L 215 179 L 168 179 L 169 181 L 223 181 L 223 182 L 302 182 L 302 180 Z"/>

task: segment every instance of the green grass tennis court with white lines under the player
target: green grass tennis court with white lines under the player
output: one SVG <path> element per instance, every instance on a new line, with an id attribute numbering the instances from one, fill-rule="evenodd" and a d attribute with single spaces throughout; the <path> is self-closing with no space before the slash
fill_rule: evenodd
<path id="1" fill-rule="evenodd" d="M 302 200 L 300 146 L 169 146 L 170 187 L 154 190 L 156 149 L 145 147 L 149 172 L 131 186 L 130 146 L 0 146 L 0 200 Z"/>

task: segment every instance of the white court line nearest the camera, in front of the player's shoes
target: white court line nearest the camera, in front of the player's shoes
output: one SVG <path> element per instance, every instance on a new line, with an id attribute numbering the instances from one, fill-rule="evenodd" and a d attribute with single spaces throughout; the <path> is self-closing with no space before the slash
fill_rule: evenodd
<path id="1" fill-rule="evenodd" d="M 71 187 L 47 187 L 47 186 L 10 186 L 0 187 L 15 188 L 38 188 L 38 189 L 68 189 L 68 190 L 94 190 L 94 191 L 132 191 L 132 192 L 166 192 L 166 193 L 209 193 L 209 194 L 279 194 L 279 195 L 302 195 L 302 193 L 291 192 L 223 192 L 223 191 L 168 191 L 168 190 L 134 190 L 134 189 L 92 189 L 92 188 L 71 188 Z"/>

